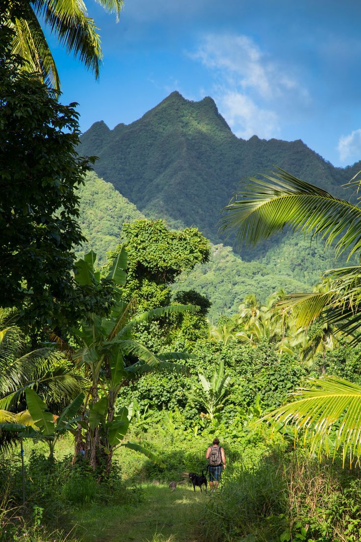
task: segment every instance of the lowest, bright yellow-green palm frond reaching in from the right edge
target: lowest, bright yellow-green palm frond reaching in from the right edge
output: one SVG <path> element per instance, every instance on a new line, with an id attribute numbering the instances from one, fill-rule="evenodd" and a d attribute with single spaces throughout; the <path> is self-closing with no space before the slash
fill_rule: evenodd
<path id="1" fill-rule="evenodd" d="M 273 425 L 292 425 L 295 438 L 301 434 L 304 443 L 310 441 L 312 453 L 324 451 L 333 457 L 339 448 L 343 450 L 343 462 L 347 454 L 350 464 L 361 457 L 361 386 L 335 376 L 310 379 L 310 386 L 292 394 L 290 403 L 268 413 L 263 421 Z"/>

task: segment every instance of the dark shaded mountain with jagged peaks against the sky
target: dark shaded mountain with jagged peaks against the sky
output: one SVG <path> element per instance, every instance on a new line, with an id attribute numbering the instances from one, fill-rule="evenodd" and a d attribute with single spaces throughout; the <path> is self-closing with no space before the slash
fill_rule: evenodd
<path id="1" fill-rule="evenodd" d="M 344 196 L 340 185 L 361 169 L 333 167 L 300 140 L 239 139 L 212 98 L 191 101 L 179 92 L 132 124 L 109 130 L 96 122 L 81 141 L 82 154 L 100 157 L 98 175 L 146 216 L 196 225 L 213 242 L 221 209 L 244 177 L 278 165 Z"/>

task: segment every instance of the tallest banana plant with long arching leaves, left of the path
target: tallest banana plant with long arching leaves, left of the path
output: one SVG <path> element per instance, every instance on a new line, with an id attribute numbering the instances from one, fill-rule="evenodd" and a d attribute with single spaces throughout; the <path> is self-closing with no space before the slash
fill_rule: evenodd
<path id="1" fill-rule="evenodd" d="M 91 251 L 76 263 L 75 280 L 82 286 L 101 286 L 101 276 L 94 269 L 96 254 Z M 194 313 L 193 305 L 158 307 L 142 314 L 135 314 L 133 300 L 122 299 L 121 287 L 126 283 L 127 253 L 122 247 L 108 270 L 105 280 L 113 283 L 115 305 L 107 317 L 95 313 L 87 315 L 82 326 L 74 331 L 78 347 L 73 356 L 78 366 L 84 368 L 91 386 L 86 396 L 84 423 L 86 424 L 86 456 L 95 470 L 105 460 L 105 474 L 109 473 L 114 450 L 127 432 L 126 410 L 115 412 L 115 401 L 123 386 L 151 372 L 183 371 L 180 360 L 190 358 L 182 352 L 156 354 L 133 338 L 133 332 L 143 322 L 171 314 Z M 136 361 L 134 361 L 134 358 Z M 77 446 L 82 440 L 79 428 Z M 123 444 L 125 446 L 125 444 Z M 155 456 L 138 444 L 128 447 L 142 450 L 148 457 Z M 157 460 L 156 460 L 157 461 Z"/>

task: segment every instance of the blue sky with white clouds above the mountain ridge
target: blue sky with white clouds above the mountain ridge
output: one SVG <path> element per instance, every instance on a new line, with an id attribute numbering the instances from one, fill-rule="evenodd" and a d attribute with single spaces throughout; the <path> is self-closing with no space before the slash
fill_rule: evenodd
<path id="1" fill-rule="evenodd" d="M 238 137 L 302 139 L 334 165 L 361 159 L 356 0 L 125 0 L 119 23 L 86 3 L 101 29 L 100 80 L 51 46 L 83 131 L 128 124 L 178 90 L 212 96 Z"/>

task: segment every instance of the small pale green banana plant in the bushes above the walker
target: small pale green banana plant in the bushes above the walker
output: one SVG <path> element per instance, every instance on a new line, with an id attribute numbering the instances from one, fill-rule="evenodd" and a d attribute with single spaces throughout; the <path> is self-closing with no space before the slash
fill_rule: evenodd
<path id="1" fill-rule="evenodd" d="M 223 360 L 219 362 L 218 369 L 214 369 L 211 379 L 208 380 L 202 372 L 198 373 L 198 378 L 201 388 L 192 390 L 188 395 L 204 407 L 207 416 L 213 421 L 214 415 L 224 404 L 231 379 L 224 374 Z"/>

